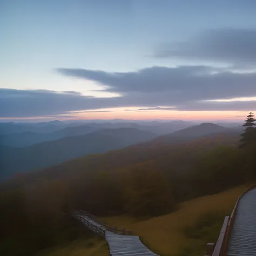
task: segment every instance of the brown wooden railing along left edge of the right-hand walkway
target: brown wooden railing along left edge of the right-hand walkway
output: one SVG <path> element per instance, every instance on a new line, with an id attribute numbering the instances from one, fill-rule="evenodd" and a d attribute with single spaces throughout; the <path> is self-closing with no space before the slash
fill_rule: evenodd
<path id="1" fill-rule="evenodd" d="M 246 194 L 248 191 L 252 190 L 255 187 L 256 185 L 254 185 L 251 188 L 247 188 L 247 190 L 238 197 L 230 217 L 226 216 L 224 219 L 224 223 L 221 228 L 217 243 L 208 243 L 206 245 L 205 256 L 226 256 L 228 241 L 230 240 L 230 235 L 234 225 L 235 216 L 237 214 L 238 203 L 241 197 L 244 196 L 244 194 Z"/>

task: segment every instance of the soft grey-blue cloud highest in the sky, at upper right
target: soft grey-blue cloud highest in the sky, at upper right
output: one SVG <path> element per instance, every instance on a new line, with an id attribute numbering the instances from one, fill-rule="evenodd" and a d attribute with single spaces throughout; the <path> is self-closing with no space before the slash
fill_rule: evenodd
<path id="1" fill-rule="evenodd" d="M 206 30 L 185 42 L 161 45 L 153 57 L 213 60 L 215 62 L 256 64 L 255 29 Z"/>

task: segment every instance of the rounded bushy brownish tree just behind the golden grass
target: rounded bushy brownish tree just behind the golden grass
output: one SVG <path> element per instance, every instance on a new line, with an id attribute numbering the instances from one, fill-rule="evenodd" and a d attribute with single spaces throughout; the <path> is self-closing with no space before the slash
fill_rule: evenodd
<path id="1" fill-rule="evenodd" d="M 126 183 L 126 211 L 133 216 L 157 216 L 175 208 L 165 174 L 150 164 L 131 167 Z"/>

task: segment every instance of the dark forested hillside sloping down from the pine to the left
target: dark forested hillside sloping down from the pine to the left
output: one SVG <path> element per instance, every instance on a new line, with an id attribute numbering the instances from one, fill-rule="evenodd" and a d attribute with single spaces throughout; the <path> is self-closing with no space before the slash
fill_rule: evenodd
<path id="1" fill-rule="evenodd" d="M 22 244 L 23 253 L 33 255 L 79 237 L 70 218 L 77 208 L 148 218 L 255 180 L 256 133 L 248 127 L 240 143 L 237 132 L 224 131 L 179 144 L 142 143 L 20 174 L 1 186 L 0 247 L 5 253 Z"/>

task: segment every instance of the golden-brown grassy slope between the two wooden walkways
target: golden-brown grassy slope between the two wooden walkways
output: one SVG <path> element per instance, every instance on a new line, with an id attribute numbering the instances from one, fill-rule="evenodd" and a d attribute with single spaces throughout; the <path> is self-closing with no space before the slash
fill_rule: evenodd
<path id="1" fill-rule="evenodd" d="M 131 229 L 134 234 L 143 238 L 152 251 L 163 256 L 174 255 L 191 242 L 183 233 L 186 226 L 193 225 L 207 212 L 223 211 L 224 215 L 231 214 L 238 196 L 250 186 L 251 184 L 243 185 L 211 196 L 186 201 L 180 205 L 178 211 L 149 220 L 138 222 L 127 217 L 104 219 L 110 225 Z"/>

